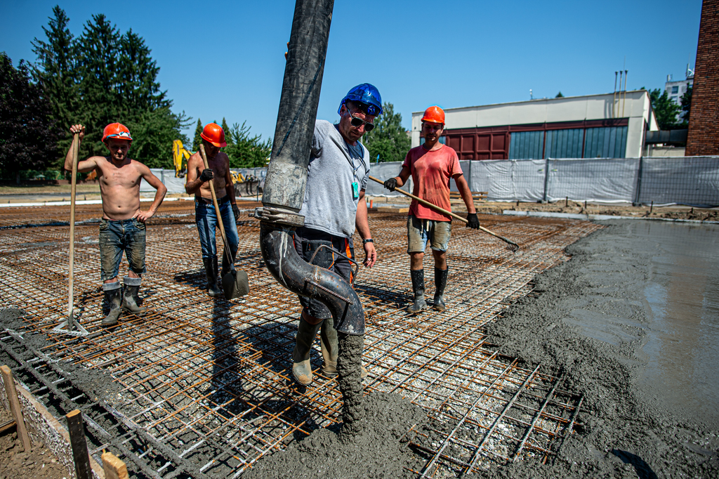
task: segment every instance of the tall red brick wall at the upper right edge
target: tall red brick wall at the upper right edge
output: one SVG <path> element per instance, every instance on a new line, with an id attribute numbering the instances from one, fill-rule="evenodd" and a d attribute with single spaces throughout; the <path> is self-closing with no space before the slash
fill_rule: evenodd
<path id="1" fill-rule="evenodd" d="M 719 0 L 702 4 L 686 155 L 719 155 Z"/>

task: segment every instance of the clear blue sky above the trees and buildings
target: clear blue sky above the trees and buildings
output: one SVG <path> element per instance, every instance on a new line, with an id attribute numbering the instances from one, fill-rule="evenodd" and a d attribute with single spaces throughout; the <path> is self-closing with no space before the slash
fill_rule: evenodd
<path id="1" fill-rule="evenodd" d="M 4 1 L 0 50 L 35 60 L 31 41 L 58 1 Z M 294 1 L 62 0 L 70 32 L 92 14 L 132 28 L 152 49 L 160 84 L 196 122 L 226 117 L 272 137 Z M 402 114 L 607 93 L 626 69 L 628 89 L 663 88 L 696 58 L 700 0 L 336 0 L 318 118 L 334 122 L 339 100 L 370 82 Z M 192 128 L 192 132 L 194 127 Z M 191 133 L 188 131 L 188 133 Z"/>

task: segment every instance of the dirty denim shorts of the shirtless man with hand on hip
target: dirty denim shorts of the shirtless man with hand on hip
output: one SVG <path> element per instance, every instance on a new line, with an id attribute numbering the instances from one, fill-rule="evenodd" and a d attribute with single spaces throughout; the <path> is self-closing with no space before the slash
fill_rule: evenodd
<path id="1" fill-rule="evenodd" d="M 145 223 L 138 219 L 102 219 L 100 222 L 100 265 L 103 281 L 115 278 L 120 270 L 122 252 L 134 273 L 146 273 Z"/>

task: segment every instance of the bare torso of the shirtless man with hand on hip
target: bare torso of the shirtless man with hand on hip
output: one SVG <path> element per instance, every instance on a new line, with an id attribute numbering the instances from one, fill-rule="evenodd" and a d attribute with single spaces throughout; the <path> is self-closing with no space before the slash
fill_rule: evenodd
<path id="1" fill-rule="evenodd" d="M 139 211 L 139 183 L 142 173 L 135 160 L 116 165 L 110 157 L 96 157 L 104 219 L 130 219 Z"/>

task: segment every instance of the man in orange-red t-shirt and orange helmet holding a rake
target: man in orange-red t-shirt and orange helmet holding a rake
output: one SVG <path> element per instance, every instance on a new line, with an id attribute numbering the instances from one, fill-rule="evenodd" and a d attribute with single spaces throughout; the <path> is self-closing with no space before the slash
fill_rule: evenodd
<path id="1" fill-rule="evenodd" d="M 439 106 L 430 106 L 422 117 L 422 135 L 424 144 L 412 148 L 407 153 L 400 174 L 385 181 L 385 188 L 394 191 L 403 186 L 412 175 L 414 196 L 429 201 L 441 209 L 452 211 L 449 204 L 449 178 L 454 178 L 459 194 L 467 205 L 467 227 L 477 229 L 475 203 L 467 180 L 464 179 L 462 168 L 459 168 L 457 152 L 451 147 L 442 145 L 439 137 L 444 130 L 444 111 Z M 444 288 L 447 283 L 446 250 L 449 246 L 449 235 L 452 232 L 452 216 L 434 211 L 413 200 L 407 219 L 407 252 L 410 255 L 410 274 L 414 291 L 413 304 L 408 308 L 411 313 L 418 313 L 427 308 L 424 301 L 424 250 L 429 241 L 434 256 L 434 302 L 432 307 L 444 311 Z"/>

